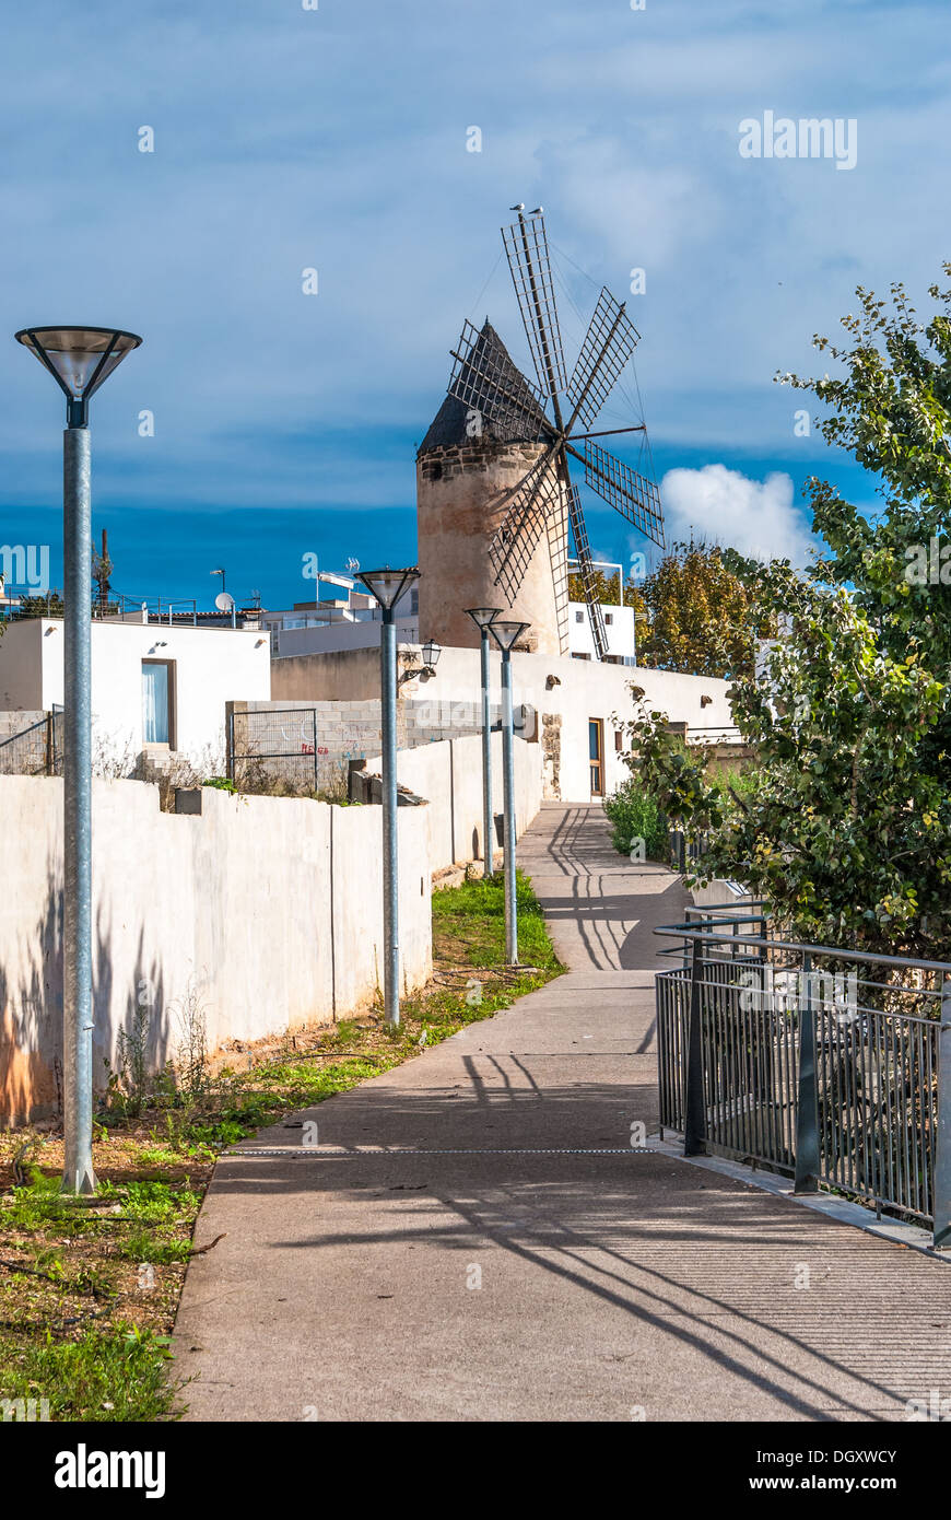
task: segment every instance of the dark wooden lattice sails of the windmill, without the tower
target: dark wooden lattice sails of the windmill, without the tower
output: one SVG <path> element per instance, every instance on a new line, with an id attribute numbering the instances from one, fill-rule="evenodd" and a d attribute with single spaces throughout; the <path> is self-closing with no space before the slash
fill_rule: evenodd
<path id="1" fill-rule="evenodd" d="M 488 543 L 494 584 L 501 587 L 512 606 L 542 534 L 547 534 L 558 582 L 559 641 L 562 651 L 567 651 L 567 515 L 594 649 L 597 658 L 603 660 L 608 654 L 608 635 L 597 599 L 582 502 L 571 482 L 568 461 L 574 459 L 582 465 L 586 486 L 652 543 L 664 544 L 661 494 L 655 480 L 630 470 L 596 442 L 612 433 L 643 433 L 644 426 L 591 430 L 627 365 L 640 333 L 630 322 L 624 302 L 615 301 L 606 287 L 602 289 L 568 377 L 542 208 L 538 207 L 527 216 L 523 205 L 512 210 L 518 213 L 518 220 L 503 226 L 501 237 L 538 385 L 518 369 L 488 321 L 482 330 L 466 322 L 459 347 L 453 350 L 448 394 L 468 409 L 476 435 L 488 423 L 495 439 L 541 445 L 539 456 L 507 492 L 501 521 Z"/>

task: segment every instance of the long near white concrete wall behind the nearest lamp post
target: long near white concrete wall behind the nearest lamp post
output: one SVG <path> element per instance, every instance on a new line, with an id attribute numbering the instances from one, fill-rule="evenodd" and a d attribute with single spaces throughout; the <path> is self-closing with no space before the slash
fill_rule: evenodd
<path id="1" fill-rule="evenodd" d="M 141 781 L 93 783 L 94 1076 L 150 1006 L 153 1069 L 194 988 L 211 1049 L 327 1023 L 381 983 L 381 809 L 205 789 L 201 815 Z M 404 985 L 431 973 L 427 809 L 400 810 Z M 0 777 L 0 1122 L 49 1111 L 62 1050 L 62 783 Z"/>

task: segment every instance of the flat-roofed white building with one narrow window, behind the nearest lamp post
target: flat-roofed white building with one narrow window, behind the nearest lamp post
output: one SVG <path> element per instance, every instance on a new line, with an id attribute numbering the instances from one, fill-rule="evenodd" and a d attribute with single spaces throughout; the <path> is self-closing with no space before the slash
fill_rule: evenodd
<path id="1" fill-rule="evenodd" d="M 270 649 L 261 629 L 93 620 L 94 760 L 132 771 L 181 755 L 223 771 L 225 704 L 270 696 Z M 62 619 L 6 625 L 0 708 L 65 707 Z"/>

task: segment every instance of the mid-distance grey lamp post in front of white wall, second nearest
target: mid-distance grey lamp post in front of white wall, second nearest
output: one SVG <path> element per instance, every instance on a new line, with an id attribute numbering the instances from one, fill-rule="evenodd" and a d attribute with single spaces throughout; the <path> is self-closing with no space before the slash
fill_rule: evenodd
<path id="1" fill-rule="evenodd" d="M 397 602 L 419 579 L 412 570 L 362 570 L 380 603 L 380 713 L 383 730 L 383 1008 L 390 1029 L 400 1028 L 400 877 L 397 869 Z"/>

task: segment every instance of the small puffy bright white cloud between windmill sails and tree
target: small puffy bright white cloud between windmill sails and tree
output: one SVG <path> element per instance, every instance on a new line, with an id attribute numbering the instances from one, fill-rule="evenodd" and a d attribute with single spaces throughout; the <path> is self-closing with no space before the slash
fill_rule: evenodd
<path id="1" fill-rule="evenodd" d="M 694 538 L 738 549 L 757 559 L 807 562 L 816 540 L 793 506 L 793 482 L 782 473 L 750 480 L 726 465 L 668 470 L 661 482 L 667 538 Z"/>

